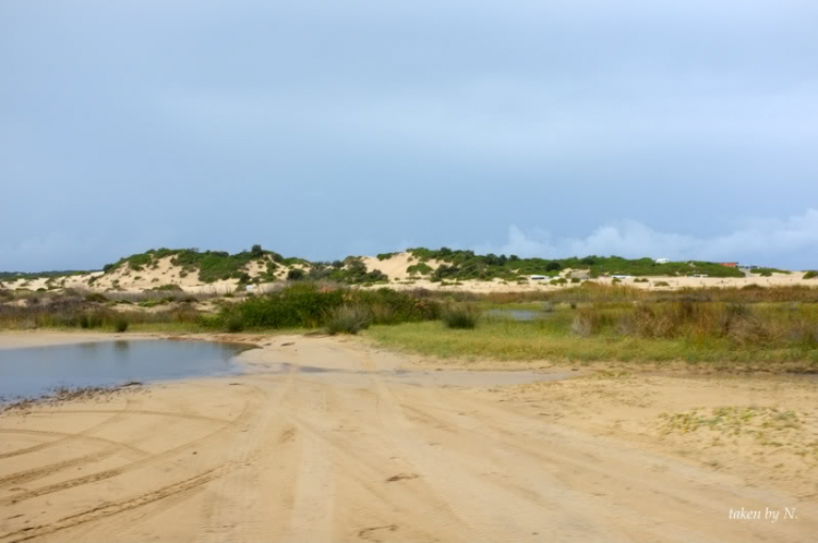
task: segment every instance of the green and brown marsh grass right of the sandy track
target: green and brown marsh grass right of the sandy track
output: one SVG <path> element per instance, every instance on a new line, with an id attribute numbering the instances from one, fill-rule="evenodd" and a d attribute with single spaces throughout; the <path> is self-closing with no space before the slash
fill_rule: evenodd
<path id="1" fill-rule="evenodd" d="M 802 370 L 818 370 L 818 306 L 808 304 L 561 305 L 531 322 L 484 318 L 473 330 L 429 322 L 373 326 L 366 334 L 387 347 L 443 358 L 713 366 L 796 362 Z"/>

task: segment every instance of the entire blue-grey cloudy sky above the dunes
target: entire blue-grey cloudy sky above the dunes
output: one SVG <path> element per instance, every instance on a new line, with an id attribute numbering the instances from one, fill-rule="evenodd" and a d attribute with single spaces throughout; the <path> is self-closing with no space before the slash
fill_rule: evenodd
<path id="1" fill-rule="evenodd" d="M 0 0 L 0 270 L 408 246 L 818 268 L 818 2 Z"/>

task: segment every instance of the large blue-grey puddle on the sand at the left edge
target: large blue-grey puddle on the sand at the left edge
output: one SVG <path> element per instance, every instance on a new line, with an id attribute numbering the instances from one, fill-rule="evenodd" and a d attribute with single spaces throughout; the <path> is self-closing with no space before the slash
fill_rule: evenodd
<path id="1" fill-rule="evenodd" d="M 55 387 L 109 386 L 241 373 L 237 343 L 99 341 L 0 350 L 0 399 L 33 398 Z"/>

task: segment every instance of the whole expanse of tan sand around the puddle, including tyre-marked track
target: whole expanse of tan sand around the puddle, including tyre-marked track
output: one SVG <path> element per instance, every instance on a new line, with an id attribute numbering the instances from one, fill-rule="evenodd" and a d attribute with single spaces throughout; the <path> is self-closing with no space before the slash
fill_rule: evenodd
<path id="1" fill-rule="evenodd" d="M 0 346 L 109 339 L 4 334 Z M 816 458 L 804 452 L 817 432 L 814 383 L 481 364 L 555 378 L 493 384 L 508 372 L 359 339 L 239 339 L 260 346 L 240 355 L 244 375 L 3 412 L 0 542 L 805 541 L 818 532 Z M 792 411 L 797 427 L 775 427 L 780 446 L 746 435 L 713 445 L 718 427 L 675 432 L 663 417 L 724 406 Z M 742 508 L 797 518 L 730 518 Z"/>

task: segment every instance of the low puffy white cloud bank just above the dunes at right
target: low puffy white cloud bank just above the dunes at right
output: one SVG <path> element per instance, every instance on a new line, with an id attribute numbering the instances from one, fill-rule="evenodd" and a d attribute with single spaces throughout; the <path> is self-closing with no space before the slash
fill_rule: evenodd
<path id="1" fill-rule="evenodd" d="M 561 257 L 589 254 L 626 257 L 701 258 L 743 261 L 747 264 L 780 264 L 816 267 L 818 209 L 785 219 L 756 219 L 725 234 L 695 237 L 662 232 L 636 220 L 619 220 L 597 228 L 586 238 L 551 239 L 546 232 L 524 232 L 508 228 L 508 241 L 501 246 L 481 245 L 480 252 L 518 256 Z M 748 262 L 753 261 L 753 262 Z M 797 263 L 797 264 L 795 264 Z"/>

